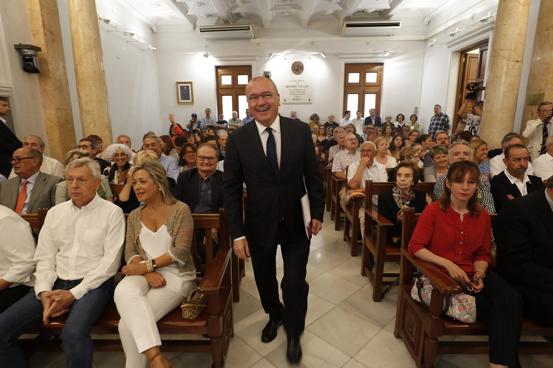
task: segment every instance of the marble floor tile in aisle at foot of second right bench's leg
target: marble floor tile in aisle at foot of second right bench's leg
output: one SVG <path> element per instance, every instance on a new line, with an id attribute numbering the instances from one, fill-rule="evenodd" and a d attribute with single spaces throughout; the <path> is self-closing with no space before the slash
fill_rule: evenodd
<path id="1" fill-rule="evenodd" d="M 362 287 L 338 306 L 384 328 L 395 317 L 397 302 L 386 297 L 381 302 L 373 302 L 372 291 Z"/>

